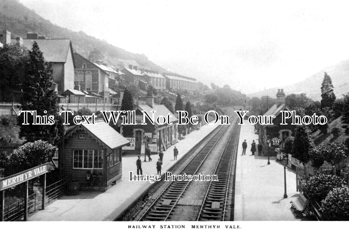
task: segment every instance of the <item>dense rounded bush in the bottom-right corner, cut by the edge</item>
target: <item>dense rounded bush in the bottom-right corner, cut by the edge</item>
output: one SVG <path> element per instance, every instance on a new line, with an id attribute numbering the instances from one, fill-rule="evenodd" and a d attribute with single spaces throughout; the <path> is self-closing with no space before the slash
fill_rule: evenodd
<path id="1" fill-rule="evenodd" d="M 342 186 L 334 188 L 322 201 L 320 211 L 323 220 L 348 221 L 349 220 L 349 188 Z"/>

